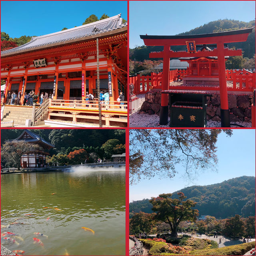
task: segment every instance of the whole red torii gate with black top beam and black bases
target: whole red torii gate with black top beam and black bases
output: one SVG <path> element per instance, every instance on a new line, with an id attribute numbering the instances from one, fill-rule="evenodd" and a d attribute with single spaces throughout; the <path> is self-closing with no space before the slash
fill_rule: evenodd
<path id="1" fill-rule="evenodd" d="M 220 84 L 220 118 L 222 127 L 230 127 L 230 116 L 228 109 L 228 92 L 226 84 L 226 67 L 225 56 L 241 56 L 242 50 L 232 50 L 224 48 L 224 44 L 231 42 L 245 42 L 252 28 L 232 30 L 226 32 L 198 34 L 198 35 L 182 35 L 182 36 L 148 36 L 140 35 L 146 46 L 164 46 L 162 52 L 151 52 L 150 58 L 163 58 L 163 75 L 162 75 L 162 90 L 168 90 L 169 87 L 169 70 L 170 58 L 178 57 L 218 57 L 218 73 Z M 198 51 L 193 53 L 186 51 L 174 52 L 170 50 L 170 46 L 188 45 L 194 41 L 196 44 L 217 44 L 217 48 L 212 51 Z M 190 49 L 191 50 L 191 49 Z M 192 50 L 191 50 L 192 51 Z M 168 94 L 162 94 L 160 108 L 160 124 L 168 123 Z"/>

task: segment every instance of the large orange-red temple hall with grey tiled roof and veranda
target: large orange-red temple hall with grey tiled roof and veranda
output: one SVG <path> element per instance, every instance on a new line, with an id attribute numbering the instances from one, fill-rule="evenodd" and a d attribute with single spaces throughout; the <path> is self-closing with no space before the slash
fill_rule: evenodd
<path id="1" fill-rule="evenodd" d="M 120 92 L 125 100 L 127 95 L 127 22 L 123 24 L 122 21 L 121 14 L 118 14 L 36 36 L 22 46 L 1 52 L 1 79 L 6 80 L 5 100 L 9 91 L 21 90 L 20 105 L 23 105 L 24 93 L 34 90 L 40 102 L 40 94 L 47 92 L 52 98 L 47 106 L 48 120 L 97 123 L 99 68 L 100 90 L 110 96 L 107 108 L 102 106 L 102 123 L 124 126 L 127 123 L 127 108 L 120 108 L 116 101 Z M 94 95 L 96 102 L 90 102 L 94 104 L 85 104 L 86 92 Z M 23 108 L 26 113 L 32 107 Z M 39 105 L 36 112 L 39 111 L 37 108 Z M 17 106 L 8 106 L 6 111 L 9 112 L 6 113 L 10 116 L 15 109 L 18 110 Z M 35 119 L 32 117 L 32 123 L 37 118 L 37 114 Z"/>

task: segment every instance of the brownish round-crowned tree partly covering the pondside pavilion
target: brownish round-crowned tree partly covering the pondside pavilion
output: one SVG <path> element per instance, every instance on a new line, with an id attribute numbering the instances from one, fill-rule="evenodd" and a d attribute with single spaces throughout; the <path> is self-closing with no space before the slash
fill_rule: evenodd
<path id="1" fill-rule="evenodd" d="M 20 170 L 21 163 L 20 158 L 24 154 L 30 154 L 40 150 L 40 146 L 37 144 L 27 143 L 24 140 L 12 140 L 6 141 L 1 147 L 1 163 L 13 164 Z"/>

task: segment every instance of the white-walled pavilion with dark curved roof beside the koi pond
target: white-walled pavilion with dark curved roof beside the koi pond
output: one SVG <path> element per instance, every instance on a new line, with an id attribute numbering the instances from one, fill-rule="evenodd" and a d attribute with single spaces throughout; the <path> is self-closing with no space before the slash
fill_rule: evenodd
<path id="1" fill-rule="evenodd" d="M 54 148 L 54 145 L 50 144 L 49 142 L 47 142 L 34 132 L 31 132 L 30 130 L 24 130 L 24 132 L 22 132 L 22 134 L 14 140 L 23 140 L 26 143 L 37 144 L 42 148 L 42 150 L 22 155 L 20 159 L 22 168 L 46 166 L 46 156 L 49 155 L 48 151 L 51 148 Z"/>

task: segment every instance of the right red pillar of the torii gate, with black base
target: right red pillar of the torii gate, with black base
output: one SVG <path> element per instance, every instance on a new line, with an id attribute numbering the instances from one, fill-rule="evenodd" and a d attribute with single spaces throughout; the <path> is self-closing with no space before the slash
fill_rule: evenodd
<path id="1" fill-rule="evenodd" d="M 224 43 L 217 43 L 218 49 L 218 73 L 220 84 L 220 118 L 221 127 L 230 127 L 230 115 L 228 109 L 228 90 L 226 82 L 226 66 L 225 66 L 225 54 Z"/>

